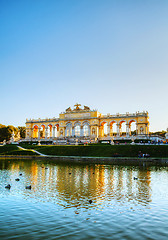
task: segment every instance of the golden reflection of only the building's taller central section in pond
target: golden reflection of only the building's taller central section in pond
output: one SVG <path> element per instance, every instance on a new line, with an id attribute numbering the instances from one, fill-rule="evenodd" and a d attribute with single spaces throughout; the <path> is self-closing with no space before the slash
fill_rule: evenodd
<path id="1" fill-rule="evenodd" d="M 76 206 L 86 204 L 90 198 L 98 199 L 104 193 L 104 167 L 59 167 L 57 191 L 66 202 L 76 203 Z"/>

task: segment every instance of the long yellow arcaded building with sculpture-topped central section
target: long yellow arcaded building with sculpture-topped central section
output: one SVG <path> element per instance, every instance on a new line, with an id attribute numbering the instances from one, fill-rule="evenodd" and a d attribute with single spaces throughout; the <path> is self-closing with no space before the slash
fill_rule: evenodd
<path id="1" fill-rule="evenodd" d="M 126 131 L 122 132 L 122 124 Z M 59 118 L 26 120 L 27 140 L 56 140 L 56 139 L 121 139 L 131 138 L 131 125 L 136 125 L 136 138 L 146 138 L 149 134 L 148 112 L 136 112 L 116 115 L 102 115 L 97 110 L 91 110 L 80 104 L 74 109 L 70 107 L 59 114 Z M 113 126 L 116 125 L 116 132 Z M 106 131 L 105 131 L 106 126 Z"/>

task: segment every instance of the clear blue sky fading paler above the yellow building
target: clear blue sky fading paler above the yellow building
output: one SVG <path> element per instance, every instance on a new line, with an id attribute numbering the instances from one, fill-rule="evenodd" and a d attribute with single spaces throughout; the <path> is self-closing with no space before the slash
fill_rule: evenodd
<path id="1" fill-rule="evenodd" d="M 148 111 L 168 127 L 167 0 L 0 0 L 0 123 Z"/>

